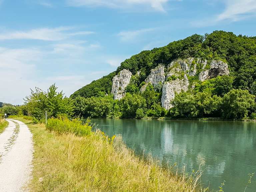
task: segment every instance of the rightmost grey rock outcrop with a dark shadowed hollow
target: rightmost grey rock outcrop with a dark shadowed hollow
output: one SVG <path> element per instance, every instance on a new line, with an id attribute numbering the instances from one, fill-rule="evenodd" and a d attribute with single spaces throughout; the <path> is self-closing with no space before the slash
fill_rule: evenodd
<path id="1" fill-rule="evenodd" d="M 206 65 L 205 65 L 206 66 Z M 205 69 L 199 74 L 199 80 L 205 81 L 217 77 L 218 75 L 229 75 L 228 64 L 223 61 L 213 60 L 210 63 L 210 69 Z"/>

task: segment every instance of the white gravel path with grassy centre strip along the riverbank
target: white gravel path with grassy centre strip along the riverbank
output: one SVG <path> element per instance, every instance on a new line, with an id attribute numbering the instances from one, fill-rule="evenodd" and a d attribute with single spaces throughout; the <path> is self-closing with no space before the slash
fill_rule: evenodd
<path id="1" fill-rule="evenodd" d="M 0 192 L 25 192 L 32 170 L 32 134 L 21 121 L 7 121 L 0 134 Z"/>

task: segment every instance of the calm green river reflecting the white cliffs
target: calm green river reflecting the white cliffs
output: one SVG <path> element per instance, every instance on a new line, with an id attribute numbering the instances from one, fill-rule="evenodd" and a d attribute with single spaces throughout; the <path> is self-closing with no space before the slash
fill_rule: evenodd
<path id="1" fill-rule="evenodd" d="M 256 123 L 241 121 L 92 119 L 109 136 L 122 137 L 137 155 L 152 154 L 160 165 L 201 165 L 210 189 L 243 192 L 248 174 L 256 172 Z M 255 192 L 256 176 L 246 192 Z"/>

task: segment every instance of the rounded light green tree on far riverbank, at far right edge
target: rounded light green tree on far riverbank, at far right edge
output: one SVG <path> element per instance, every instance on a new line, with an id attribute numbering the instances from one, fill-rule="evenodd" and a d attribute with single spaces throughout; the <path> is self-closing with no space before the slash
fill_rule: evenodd
<path id="1" fill-rule="evenodd" d="M 223 97 L 223 117 L 226 119 L 243 119 L 254 105 L 255 96 L 248 90 L 232 89 Z"/>

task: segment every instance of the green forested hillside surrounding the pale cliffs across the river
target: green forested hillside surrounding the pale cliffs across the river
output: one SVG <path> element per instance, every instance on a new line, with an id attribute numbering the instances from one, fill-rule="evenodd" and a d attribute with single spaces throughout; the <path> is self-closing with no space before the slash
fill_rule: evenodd
<path id="1" fill-rule="evenodd" d="M 190 58 L 191 65 L 196 66 L 195 74 L 190 76 L 185 71 L 185 74 L 167 75 L 172 70 L 170 63 L 176 59 Z M 200 61 L 205 61 L 203 67 Z M 201 72 L 210 69 L 211 61 L 226 63 L 229 71 L 200 81 Z M 185 91 L 175 92 L 170 109 L 161 105 L 162 84 L 156 89 L 145 82 L 152 70 L 160 65 L 164 67 L 164 77 L 167 75 L 162 83 L 173 83 L 177 79 L 182 80 L 183 76 L 189 81 Z M 111 94 L 112 79 L 115 75 L 119 77 L 123 69 L 129 70 L 132 76 L 125 86 L 125 96 L 114 100 Z M 189 70 L 191 72 L 191 68 Z M 74 99 L 75 114 L 82 116 L 255 118 L 255 79 L 256 37 L 214 31 L 142 51 L 123 61 L 115 72 L 77 90 L 71 98 Z"/>

